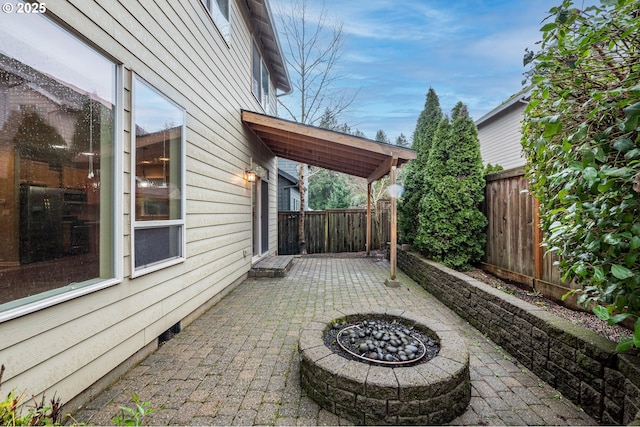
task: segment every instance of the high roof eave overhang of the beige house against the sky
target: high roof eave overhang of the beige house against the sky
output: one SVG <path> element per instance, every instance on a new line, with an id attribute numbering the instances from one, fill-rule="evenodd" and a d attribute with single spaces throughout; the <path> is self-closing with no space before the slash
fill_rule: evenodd
<path id="1" fill-rule="evenodd" d="M 278 39 L 268 0 L 245 1 L 251 14 L 251 20 L 255 25 L 254 30 L 257 32 L 257 39 L 262 42 L 263 54 L 273 67 L 271 72 L 275 76 L 276 88 L 280 89 L 284 94 L 290 93 L 289 72 L 282 54 L 280 40 Z"/>

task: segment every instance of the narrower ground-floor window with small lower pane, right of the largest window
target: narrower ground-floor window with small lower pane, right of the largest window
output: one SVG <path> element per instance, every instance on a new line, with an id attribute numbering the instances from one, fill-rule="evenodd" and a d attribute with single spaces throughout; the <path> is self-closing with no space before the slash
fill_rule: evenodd
<path id="1" fill-rule="evenodd" d="M 133 120 L 135 275 L 184 259 L 184 110 L 136 76 Z"/>

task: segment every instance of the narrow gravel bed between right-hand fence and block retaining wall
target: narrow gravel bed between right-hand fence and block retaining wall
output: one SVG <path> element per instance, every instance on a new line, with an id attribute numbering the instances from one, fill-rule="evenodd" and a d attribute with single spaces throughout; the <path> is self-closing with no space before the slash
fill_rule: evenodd
<path id="1" fill-rule="evenodd" d="M 543 307 L 555 314 L 556 316 L 563 317 L 569 320 L 574 325 L 580 325 L 587 329 L 590 329 L 605 338 L 609 338 L 611 341 L 618 342 L 622 337 L 629 337 L 632 335 L 632 331 L 619 325 L 609 326 L 607 322 L 598 319 L 594 314 L 586 311 L 576 311 L 570 308 L 563 307 L 556 302 L 549 300 L 543 296 L 536 295 L 530 290 L 525 290 L 513 283 L 505 282 L 492 274 L 487 273 L 484 270 L 475 269 L 471 271 L 465 271 L 466 275 L 480 280 L 483 283 L 500 289 L 501 291 L 511 294 L 521 300 L 527 301 L 531 304 L 535 304 Z"/>

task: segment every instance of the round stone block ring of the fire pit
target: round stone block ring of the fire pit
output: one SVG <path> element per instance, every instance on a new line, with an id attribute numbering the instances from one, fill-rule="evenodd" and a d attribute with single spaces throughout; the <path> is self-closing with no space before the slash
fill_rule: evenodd
<path id="1" fill-rule="evenodd" d="M 397 320 L 421 330 L 440 345 L 430 361 L 412 366 L 375 366 L 348 360 L 325 344 L 336 321 Z M 356 424 L 444 424 L 469 403 L 469 354 L 450 327 L 402 310 L 334 313 L 307 325 L 298 344 L 300 378 L 324 409 Z"/>

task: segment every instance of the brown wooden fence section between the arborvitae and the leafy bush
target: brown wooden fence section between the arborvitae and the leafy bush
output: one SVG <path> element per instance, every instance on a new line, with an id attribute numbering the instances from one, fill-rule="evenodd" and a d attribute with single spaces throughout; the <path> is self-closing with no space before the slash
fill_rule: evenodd
<path id="1" fill-rule="evenodd" d="M 489 221 L 483 268 L 559 300 L 572 284 L 563 283 L 556 256 L 540 246 L 537 202 L 522 169 L 487 175 L 483 210 Z"/>

